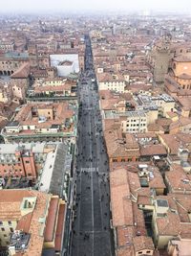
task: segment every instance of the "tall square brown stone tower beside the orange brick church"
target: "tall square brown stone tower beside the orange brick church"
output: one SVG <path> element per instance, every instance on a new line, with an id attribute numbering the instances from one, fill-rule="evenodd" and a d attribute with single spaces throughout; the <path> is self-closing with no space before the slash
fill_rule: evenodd
<path id="1" fill-rule="evenodd" d="M 154 81 L 157 84 L 164 82 L 164 77 L 168 72 L 170 60 L 170 37 L 165 36 L 154 48 Z"/>

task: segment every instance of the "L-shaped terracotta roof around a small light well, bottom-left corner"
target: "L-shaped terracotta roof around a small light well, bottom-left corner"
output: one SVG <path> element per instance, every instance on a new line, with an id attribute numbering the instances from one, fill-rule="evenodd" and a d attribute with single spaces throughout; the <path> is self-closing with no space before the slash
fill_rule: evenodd
<path id="1" fill-rule="evenodd" d="M 21 202 L 23 198 L 30 197 L 36 198 L 35 207 L 32 210 L 32 214 L 22 216 L 20 210 Z M 16 228 L 23 227 L 31 234 L 28 248 L 22 255 L 41 255 L 44 244 L 44 223 L 38 220 L 46 217 L 46 209 L 50 199 L 50 195 L 34 190 L 5 189 L 0 191 L 0 220 L 18 221 L 18 227 Z"/>

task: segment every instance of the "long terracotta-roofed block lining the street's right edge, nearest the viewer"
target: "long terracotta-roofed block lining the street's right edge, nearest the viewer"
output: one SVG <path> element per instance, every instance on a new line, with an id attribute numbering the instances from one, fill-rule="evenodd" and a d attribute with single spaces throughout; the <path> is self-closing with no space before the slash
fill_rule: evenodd
<path id="1" fill-rule="evenodd" d="M 142 193 L 138 175 L 118 167 L 111 172 L 110 188 L 116 255 L 154 255 L 155 247 L 147 236 L 143 211 L 138 209 L 138 203 L 143 201 L 141 196 L 136 198 Z"/>

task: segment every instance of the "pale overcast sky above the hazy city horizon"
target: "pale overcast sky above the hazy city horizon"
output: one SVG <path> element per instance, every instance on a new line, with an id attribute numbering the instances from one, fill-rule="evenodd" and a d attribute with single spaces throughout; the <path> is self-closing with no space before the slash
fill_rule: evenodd
<path id="1" fill-rule="evenodd" d="M 0 12 L 191 10 L 191 0 L 0 0 Z"/>

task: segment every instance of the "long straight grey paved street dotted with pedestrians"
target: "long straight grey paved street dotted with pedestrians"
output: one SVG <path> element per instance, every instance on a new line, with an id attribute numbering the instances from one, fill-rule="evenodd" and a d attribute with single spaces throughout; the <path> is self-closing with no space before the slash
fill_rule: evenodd
<path id="1" fill-rule="evenodd" d="M 86 47 L 86 71 L 79 81 L 79 122 L 73 256 L 112 256 L 108 160 L 102 136 L 92 56 Z M 90 67 L 90 69 L 89 69 Z"/>

